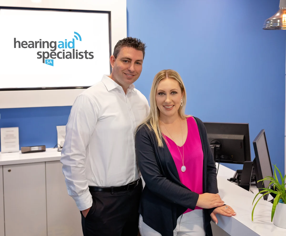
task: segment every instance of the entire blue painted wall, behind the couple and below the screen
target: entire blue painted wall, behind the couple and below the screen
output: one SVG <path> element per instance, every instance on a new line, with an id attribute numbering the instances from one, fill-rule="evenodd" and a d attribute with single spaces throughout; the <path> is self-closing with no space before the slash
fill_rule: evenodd
<path id="1" fill-rule="evenodd" d="M 127 34 L 148 46 L 135 84 L 146 97 L 158 71 L 177 70 L 186 113 L 249 123 L 252 159 L 252 141 L 265 129 L 271 160 L 284 173 L 285 31 L 262 29 L 278 6 L 278 0 L 127 0 Z M 70 108 L 0 109 L 0 127 L 18 126 L 20 146 L 53 147 L 55 126 L 66 124 Z"/>

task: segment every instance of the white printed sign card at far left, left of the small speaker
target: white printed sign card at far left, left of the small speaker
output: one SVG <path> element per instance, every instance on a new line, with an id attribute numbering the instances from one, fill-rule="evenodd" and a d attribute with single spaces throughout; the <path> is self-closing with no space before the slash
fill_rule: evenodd
<path id="1" fill-rule="evenodd" d="M 1 152 L 19 152 L 19 127 L 0 128 Z"/>

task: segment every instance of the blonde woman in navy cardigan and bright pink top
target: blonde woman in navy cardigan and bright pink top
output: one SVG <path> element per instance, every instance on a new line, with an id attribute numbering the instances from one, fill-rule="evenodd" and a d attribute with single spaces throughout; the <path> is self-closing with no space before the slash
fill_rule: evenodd
<path id="1" fill-rule="evenodd" d="M 235 215 L 217 188 L 215 162 L 202 121 L 185 115 L 186 90 L 174 70 L 156 74 L 150 114 L 136 131 L 146 183 L 140 202 L 142 236 L 212 235 L 210 217 Z"/>

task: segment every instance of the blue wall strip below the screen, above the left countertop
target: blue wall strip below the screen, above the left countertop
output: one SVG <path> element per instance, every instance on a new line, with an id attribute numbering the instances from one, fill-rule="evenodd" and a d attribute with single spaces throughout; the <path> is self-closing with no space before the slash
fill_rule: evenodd
<path id="1" fill-rule="evenodd" d="M 54 147 L 57 125 L 66 125 L 71 106 L 0 109 L 0 127 L 19 127 L 19 145 Z"/>

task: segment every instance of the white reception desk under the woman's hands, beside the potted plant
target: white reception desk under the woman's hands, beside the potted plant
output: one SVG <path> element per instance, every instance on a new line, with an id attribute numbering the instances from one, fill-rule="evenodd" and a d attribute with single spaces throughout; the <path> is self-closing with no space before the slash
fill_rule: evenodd
<path id="1" fill-rule="evenodd" d="M 279 228 L 271 222 L 272 204 L 268 201 L 261 199 L 258 202 L 253 222 L 251 221 L 252 202 L 258 189 L 251 188 L 254 192 L 252 193 L 229 182 L 227 178 L 233 177 L 234 173 L 234 170 L 223 165 L 219 166 L 217 176 L 219 194 L 225 204 L 231 206 L 237 215 L 234 217 L 217 215 L 218 226 L 231 236 L 286 235 L 286 229 Z"/>

